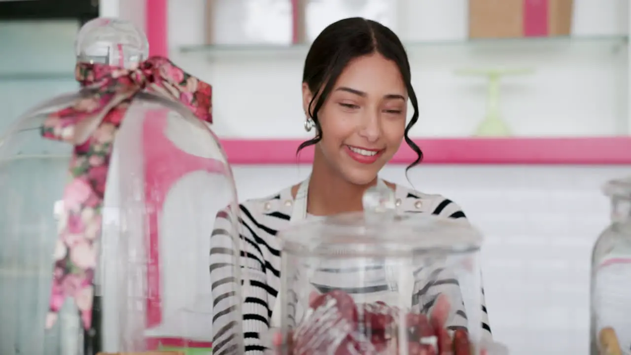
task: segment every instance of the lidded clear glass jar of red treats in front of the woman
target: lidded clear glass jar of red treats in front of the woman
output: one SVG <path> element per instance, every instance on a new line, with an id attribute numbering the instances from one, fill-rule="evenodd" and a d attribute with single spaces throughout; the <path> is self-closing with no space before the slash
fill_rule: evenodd
<path id="1" fill-rule="evenodd" d="M 481 235 L 394 205 L 375 187 L 364 212 L 281 233 L 285 354 L 505 354 L 483 334 Z"/>

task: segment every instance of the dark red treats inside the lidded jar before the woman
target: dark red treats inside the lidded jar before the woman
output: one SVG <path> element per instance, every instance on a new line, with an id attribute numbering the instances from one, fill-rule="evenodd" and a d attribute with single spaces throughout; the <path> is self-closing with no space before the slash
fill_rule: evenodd
<path id="1" fill-rule="evenodd" d="M 452 339 L 442 325 L 430 324 L 426 315 L 403 314 L 383 302 L 358 306 L 346 292 L 331 291 L 309 306 L 312 314 L 294 332 L 292 355 L 398 354 L 401 316 L 408 355 L 471 354 L 466 330 L 456 330 Z"/>

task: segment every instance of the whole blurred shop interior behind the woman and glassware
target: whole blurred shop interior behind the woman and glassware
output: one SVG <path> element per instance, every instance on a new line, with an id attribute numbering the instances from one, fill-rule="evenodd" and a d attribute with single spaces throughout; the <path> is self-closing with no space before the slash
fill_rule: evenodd
<path id="1" fill-rule="evenodd" d="M 74 37 L 97 16 L 133 20 L 213 85 L 240 200 L 309 174 L 295 148 L 310 41 L 349 16 L 391 27 L 427 161 L 406 178 L 401 152 L 382 177 L 451 198 L 485 233 L 491 327 L 511 354 L 587 354 L 600 188 L 631 171 L 628 0 L 0 0 L 0 132 L 78 87 Z"/>

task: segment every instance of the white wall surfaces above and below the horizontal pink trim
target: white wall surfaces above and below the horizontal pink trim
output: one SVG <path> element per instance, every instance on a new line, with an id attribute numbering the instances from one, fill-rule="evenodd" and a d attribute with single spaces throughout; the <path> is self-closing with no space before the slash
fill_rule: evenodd
<path id="1" fill-rule="evenodd" d="M 203 0 L 170 2 L 171 56 L 213 84 L 215 130 L 233 138 L 297 138 L 302 131 L 302 53 L 180 54 L 203 42 Z M 402 1 L 404 2 L 404 1 Z M 575 0 L 574 35 L 627 33 L 626 0 Z M 466 1 L 420 0 L 404 11 L 406 40 L 462 40 Z M 610 135 L 628 129 L 626 49 L 598 41 L 413 51 L 422 122 L 415 136 L 468 136 L 484 114 L 484 81 L 464 66 L 528 66 L 509 78 L 502 109 L 517 135 Z M 238 53 L 238 52 L 237 52 Z M 580 154 L 580 152 L 577 152 Z M 235 166 L 242 200 L 296 183 L 309 167 Z M 407 183 L 404 167 L 383 177 Z M 487 303 L 497 340 L 511 354 L 587 354 L 590 251 L 608 224 L 601 184 L 628 167 L 426 165 L 410 173 L 418 190 L 461 204 L 485 232 Z M 255 179 L 252 176 L 256 176 Z"/>

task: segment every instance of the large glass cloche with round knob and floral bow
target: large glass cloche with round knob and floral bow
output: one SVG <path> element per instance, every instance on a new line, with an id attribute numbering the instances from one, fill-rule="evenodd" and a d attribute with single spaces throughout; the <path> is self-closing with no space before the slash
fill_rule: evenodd
<path id="1" fill-rule="evenodd" d="M 148 58 L 125 21 L 87 23 L 76 48 L 81 90 L 0 140 L 0 354 L 210 354 L 216 216 L 223 247 L 239 248 L 211 87 Z M 239 253 L 227 258 L 238 276 Z"/>

